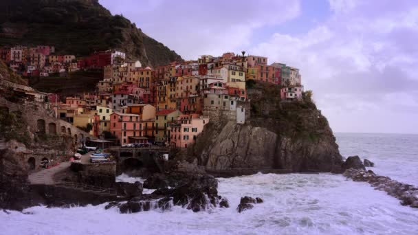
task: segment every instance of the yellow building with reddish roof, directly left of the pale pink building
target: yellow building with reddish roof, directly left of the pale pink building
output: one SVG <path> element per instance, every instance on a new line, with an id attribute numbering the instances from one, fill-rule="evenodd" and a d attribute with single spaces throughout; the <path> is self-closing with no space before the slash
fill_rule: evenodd
<path id="1" fill-rule="evenodd" d="M 166 142 L 170 139 L 169 122 L 174 122 L 182 115 L 179 110 L 164 109 L 157 111 L 155 115 L 155 141 Z"/>

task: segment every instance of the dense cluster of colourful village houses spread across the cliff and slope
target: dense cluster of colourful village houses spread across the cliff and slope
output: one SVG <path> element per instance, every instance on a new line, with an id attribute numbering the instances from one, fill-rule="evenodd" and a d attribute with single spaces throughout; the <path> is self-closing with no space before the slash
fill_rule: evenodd
<path id="1" fill-rule="evenodd" d="M 115 49 L 76 58 L 57 55 L 52 46 L 15 46 L 0 48 L 0 60 L 18 74 L 39 79 L 101 69 L 103 79 L 94 93 L 30 95 L 50 105 L 57 118 L 119 146 L 187 148 L 203 126 L 221 116 L 243 124 L 250 109 L 246 83 L 251 80 L 281 86 L 277 96 L 286 102 L 302 99 L 303 93 L 298 69 L 268 65 L 267 57 L 245 52 L 152 68 Z"/>

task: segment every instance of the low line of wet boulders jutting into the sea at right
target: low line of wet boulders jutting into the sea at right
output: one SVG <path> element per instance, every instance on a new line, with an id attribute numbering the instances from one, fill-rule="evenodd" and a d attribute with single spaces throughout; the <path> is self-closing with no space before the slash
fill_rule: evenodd
<path id="1" fill-rule="evenodd" d="M 343 174 L 353 181 L 369 182 L 375 190 L 385 191 L 387 194 L 401 201 L 401 205 L 409 205 L 412 208 L 418 208 L 418 188 L 408 183 L 400 183 L 391 179 L 376 175 L 372 170 L 362 170 L 350 168 Z"/>

